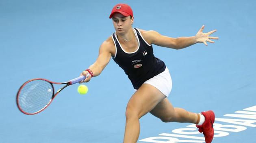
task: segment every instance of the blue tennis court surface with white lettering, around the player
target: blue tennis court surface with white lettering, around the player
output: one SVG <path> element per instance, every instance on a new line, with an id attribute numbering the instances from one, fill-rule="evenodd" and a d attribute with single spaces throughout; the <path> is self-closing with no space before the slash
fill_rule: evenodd
<path id="1" fill-rule="evenodd" d="M 112 59 L 86 84 L 87 95 L 77 93 L 79 84 L 69 86 L 33 116 L 22 114 L 15 104 L 17 90 L 28 79 L 65 82 L 87 69 L 114 32 L 108 16 L 120 2 L 133 8 L 133 27 L 170 37 L 194 36 L 202 25 L 204 32 L 218 30 L 212 36 L 219 40 L 208 46 L 153 46 L 173 80 L 169 100 L 192 112 L 214 110 L 213 143 L 256 143 L 253 0 L 1 0 L 0 143 L 123 141 L 126 104 L 134 89 Z M 138 143 L 204 142 L 189 123 L 163 123 L 151 114 L 140 123 Z"/>

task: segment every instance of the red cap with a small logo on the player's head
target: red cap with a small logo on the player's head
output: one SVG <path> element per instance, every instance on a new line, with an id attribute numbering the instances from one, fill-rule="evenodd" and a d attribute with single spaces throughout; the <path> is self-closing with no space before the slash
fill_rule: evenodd
<path id="1" fill-rule="evenodd" d="M 115 13 L 121 13 L 121 15 L 124 15 L 125 17 L 129 15 L 133 17 L 132 8 L 127 4 L 115 5 L 109 15 L 109 19 L 111 19 Z"/>

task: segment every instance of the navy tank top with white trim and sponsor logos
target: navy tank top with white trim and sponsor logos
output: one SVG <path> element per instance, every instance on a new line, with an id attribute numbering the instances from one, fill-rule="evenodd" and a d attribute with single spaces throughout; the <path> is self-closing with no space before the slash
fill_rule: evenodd
<path id="1" fill-rule="evenodd" d="M 126 52 L 117 39 L 116 33 L 113 33 L 112 39 L 116 52 L 115 57 L 112 58 L 128 75 L 133 88 L 139 89 L 146 80 L 165 71 L 166 66 L 163 61 L 154 56 L 152 45 L 143 39 L 139 30 L 137 28 L 133 28 L 133 30 L 139 44 L 137 50 L 131 53 Z"/>

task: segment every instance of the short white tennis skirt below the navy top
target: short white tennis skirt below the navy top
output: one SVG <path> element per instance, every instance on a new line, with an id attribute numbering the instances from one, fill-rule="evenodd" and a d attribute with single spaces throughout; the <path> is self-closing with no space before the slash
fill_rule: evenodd
<path id="1" fill-rule="evenodd" d="M 150 78 L 145 81 L 143 84 L 150 84 L 160 90 L 166 97 L 171 93 L 172 88 L 172 80 L 171 75 L 169 73 L 169 69 L 166 67 L 165 71 L 162 73 Z"/>

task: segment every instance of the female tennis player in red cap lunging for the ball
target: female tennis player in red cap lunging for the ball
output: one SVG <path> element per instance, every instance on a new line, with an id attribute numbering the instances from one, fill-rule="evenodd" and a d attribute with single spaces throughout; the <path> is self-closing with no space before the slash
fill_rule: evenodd
<path id="1" fill-rule="evenodd" d="M 109 16 L 113 21 L 115 33 L 102 43 L 98 59 L 82 71 L 89 78 L 100 75 L 112 59 L 124 69 L 136 92 L 126 107 L 126 127 L 124 143 L 137 143 L 140 132 L 139 119 L 150 112 L 163 122 L 189 122 L 196 124 L 203 132 L 206 143 L 213 140 L 214 112 L 191 113 L 182 108 L 174 108 L 167 97 L 171 92 L 172 81 L 165 63 L 154 57 L 152 44 L 167 48 L 182 49 L 196 43 L 214 43 L 210 39 L 213 30 L 203 33 L 204 25 L 192 37 L 171 38 L 155 31 L 145 31 L 132 27 L 133 12 L 127 4 L 117 4 Z"/>

